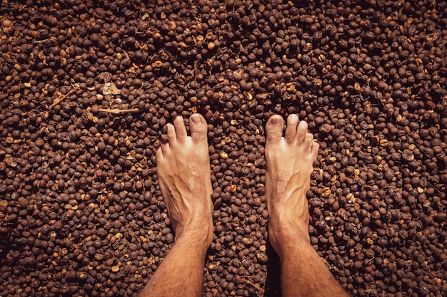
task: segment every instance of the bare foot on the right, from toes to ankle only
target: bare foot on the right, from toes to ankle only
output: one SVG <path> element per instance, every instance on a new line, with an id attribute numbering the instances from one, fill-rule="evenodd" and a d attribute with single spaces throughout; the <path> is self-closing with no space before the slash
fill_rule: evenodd
<path id="1" fill-rule="evenodd" d="M 285 137 L 283 125 L 280 115 L 271 116 L 266 124 L 268 236 L 276 251 L 289 236 L 309 240 L 306 192 L 319 148 L 297 115 L 288 116 Z"/>

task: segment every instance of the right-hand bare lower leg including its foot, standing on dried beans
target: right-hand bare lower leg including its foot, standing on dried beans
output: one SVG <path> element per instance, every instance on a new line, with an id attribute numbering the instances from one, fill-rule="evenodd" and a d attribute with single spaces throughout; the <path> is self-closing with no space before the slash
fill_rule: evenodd
<path id="1" fill-rule="evenodd" d="M 309 243 L 308 201 L 318 143 L 298 116 L 273 115 L 266 124 L 268 236 L 281 259 L 283 296 L 347 296 Z"/>

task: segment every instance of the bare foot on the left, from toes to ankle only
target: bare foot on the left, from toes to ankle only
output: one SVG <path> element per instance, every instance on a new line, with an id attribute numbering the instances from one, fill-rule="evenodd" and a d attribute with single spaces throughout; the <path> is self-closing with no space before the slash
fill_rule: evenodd
<path id="1" fill-rule="evenodd" d="M 208 125 L 201 115 L 189 118 L 187 135 L 181 116 L 167 124 L 168 142 L 156 152 L 157 177 L 176 238 L 186 231 L 204 232 L 211 244 L 213 204 Z"/>

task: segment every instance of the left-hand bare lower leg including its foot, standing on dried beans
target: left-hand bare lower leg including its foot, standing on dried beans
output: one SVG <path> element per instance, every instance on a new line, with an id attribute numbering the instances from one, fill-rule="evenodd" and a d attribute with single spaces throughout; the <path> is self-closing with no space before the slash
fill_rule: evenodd
<path id="1" fill-rule="evenodd" d="M 213 238 L 211 172 L 206 120 L 199 114 L 168 124 L 168 143 L 156 152 L 157 177 L 176 242 L 141 292 L 147 296 L 200 296 L 206 250 Z"/>

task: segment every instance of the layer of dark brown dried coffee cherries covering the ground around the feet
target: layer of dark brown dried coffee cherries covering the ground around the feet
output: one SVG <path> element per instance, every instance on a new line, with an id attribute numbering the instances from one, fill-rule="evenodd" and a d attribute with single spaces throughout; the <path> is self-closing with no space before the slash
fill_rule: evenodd
<path id="1" fill-rule="evenodd" d="M 343 288 L 446 296 L 446 43 L 445 1 L 2 0 L 0 296 L 141 291 L 174 242 L 154 152 L 191 113 L 204 296 L 280 294 L 264 125 L 291 113 L 321 144 L 309 231 Z"/>

